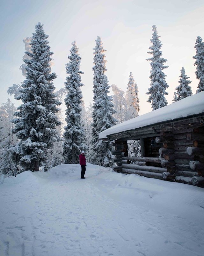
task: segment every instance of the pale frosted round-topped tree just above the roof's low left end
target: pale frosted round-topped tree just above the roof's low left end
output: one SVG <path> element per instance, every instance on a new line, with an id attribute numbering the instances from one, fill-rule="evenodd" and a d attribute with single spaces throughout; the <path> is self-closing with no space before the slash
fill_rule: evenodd
<path id="1" fill-rule="evenodd" d="M 119 123 L 122 123 L 125 121 L 125 115 L 127 112 L 125 93 L 115 84 L 112 84 L 111 88 L 113 90 L 113 105 L 116 112 L 114 117 L 119 121 Z"/>

